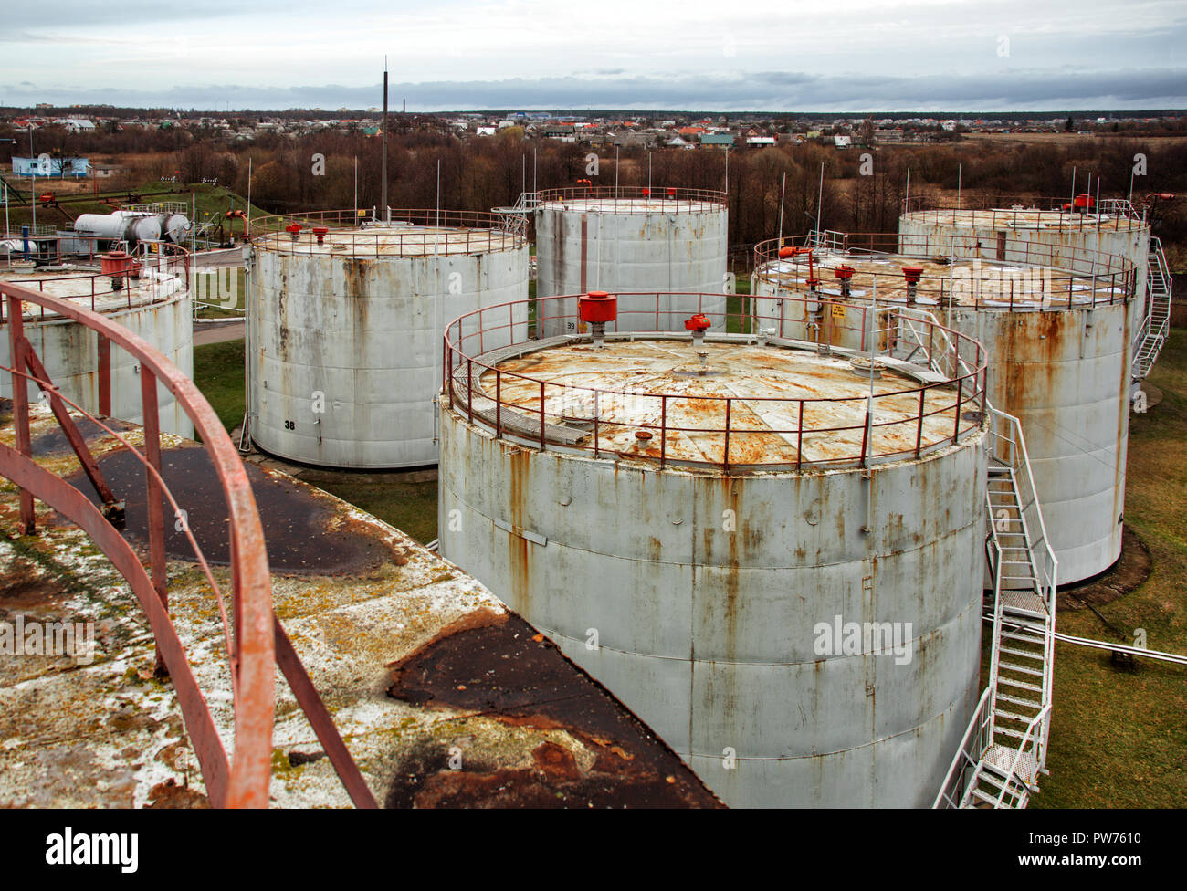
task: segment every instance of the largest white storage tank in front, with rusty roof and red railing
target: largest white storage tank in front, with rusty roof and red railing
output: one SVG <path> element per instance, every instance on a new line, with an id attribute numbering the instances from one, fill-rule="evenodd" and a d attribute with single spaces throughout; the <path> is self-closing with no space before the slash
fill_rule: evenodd
<path id="1" fill-rule="evenodd" d="M 925 388 L 745 335 L 459 339 L 496 320 L 447 329 L 442 554 L 728 804 L 929 804 L 979 689 L 978 346 Z"/>

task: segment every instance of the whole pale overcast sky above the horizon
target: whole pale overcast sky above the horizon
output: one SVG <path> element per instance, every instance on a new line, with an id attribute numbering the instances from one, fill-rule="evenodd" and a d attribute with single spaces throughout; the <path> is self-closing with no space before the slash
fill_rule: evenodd
<path id="1" fill-rule="evenodd" d="M 57 0 L 6 6 L 0 106 L 1187 108 L 1183 0 Z"/>

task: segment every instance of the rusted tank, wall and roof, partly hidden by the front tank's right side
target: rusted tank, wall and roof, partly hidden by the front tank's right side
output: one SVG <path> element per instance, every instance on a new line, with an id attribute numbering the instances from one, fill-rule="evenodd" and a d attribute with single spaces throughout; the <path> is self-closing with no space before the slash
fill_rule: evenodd
<path id="1" fill-rule="evenodd" d="M 950 238 L 951 244 L 952 235 L 964 237 L 961 230 L 932 233 L 927 237 L 934 238 L 937 244 Z M 1074 233 L 1065 235 L 1072 238 Z M 844 241 L 844 236 L 834 236 L 832 243 Z M 961 253 L 959 237 L 957 255 Z M 772 243 L 763 242 L 764 246 Z M 985 240 L 985 246 L 995 252 L 996 238 Z M 1009 242 L 1008 252 L 1014 246 L 1014 241 Z M 951 252 L 950 247 L 942 253 Z M 763 248 L 760 255 L 769 253 L 769 248 Z M 844 260 L 858 267 L 864 262 L 869 269 L 864 282 L 862 273 L 855 274 L 849 298 L 827 294 L 844 307 L 843 325 L 834 332 L 833 343 L 851 349 L 867 348 L 858 329 L 874 300 L 874 280 L 878 305 L 886 305 L 891 298 L 901 304 L 906 299 L 901 268 L 907 265 L 923 267 L 919 285 L 920 308 L 929 310 L 951 327 L 976 337 L 984 345 L 989 356 L 989 400 L 1022 424 L 1047 534 L 1059 559 L 1060 581 L 1078 581 L 1109 568 L 1122 547 L 1129 437 L 1136 280 L 1128 255 L 1102 259 L 1080 243 L 1065 241 L 1024 243 L 1020 256 L 1034 259 L 1067 253 L 1075 266 L 1053 272 L 1048 281 L 1046 268 L 1008 263 L 1018 269 L 1023 285 L 1018 288 L 1016 282 L 1013 294 L 1010 279 L 999 275 L 992 300 L 985 299 L 983 289 L 979 297 L 976 291 L 971 292 L 976 298 L 972 300 L 941 303 L 935 299 L 941 289 L 946 297 L 953 293 L 951 275 L 945 272 L 948 267 L 942 263 L 921 261 L 913 254 L 863 260 L 829 250 L 817 253 L 818 263 Z M 774 262 L 755 272 L 755 311 L 760 314 L 781 312 L 783 336 L 806 337 L 806 313 L 783 297 L 804 298 L 807 286 L 801 281 L 802 272 L 791 271 L 776 279 L 769 274 L 779 268 Z M 989 273 L 1003 268 L 999 263 L 976 259 L 958 260 L 953 266 L 967 268 L 977 263 Z M 1118 279 L 1122 284 L 1093 287 L 1094 280 L 1097 285 L 1111 281 L 1111 276 L 1102 278 L 1102 271 L 1111 268 L 1125 271 Z M 827 275 L 824 278 L 827 281 Z M 890 287 L 883 284 L 887 281 Z M 1064 282 L 1062 291 L 1059 281 Z M 1060 293 L 1064 299 L 1059 299 Z M 925 298 L 925 294 L 931 297 Z M 1052 294 L 1056 297 L 1052 299 Z M 889 322 L 880 322 L 876 326 L 878 346 L 886 345 L 886 338 L 896 333 Z"/>

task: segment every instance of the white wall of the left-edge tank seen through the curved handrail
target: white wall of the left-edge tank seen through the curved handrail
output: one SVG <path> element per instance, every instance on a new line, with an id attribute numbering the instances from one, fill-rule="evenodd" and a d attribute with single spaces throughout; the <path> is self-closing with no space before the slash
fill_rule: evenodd
<path id="1" fill-rule="evenodd" d="M 37 289 L 36 282 L 11 276 L 14 284 Z M 106 280 L 104 280 L 106 281 Z M 52 288 L 47 287 L 52 293 Z M 123 325 L 132 333 L 155 346 L 188 377 L 193 376 L 193 304 L 184 280 L 166 280 L 154 286 L 147 284 L 132 288 L 132 307 L 100 307 L 108 319 Z M 89 301 L 88 301 L 89 306 Z M 64 396 L 99 414 L 99 333 L 63 318 L 40 318 L 40 311 L 25 306 L 25 336 L 33 345 L 46 373 Z M 110 348 L 112 356 L 112 416 L 142 424 L 140 395 L 140 364 L 119 345 Z M 11 365 L 8 336 L 0 336 L 0 363 Z M 0 395 L 12 397 L 9 375 L 0 375 Z M 30 399 L 39 390 L 30 386 Z M 193 422 L 178 406 L 173 394 L 157 386 L 157 406 L 160 428 L 165 433 L 193 438 Z"/>

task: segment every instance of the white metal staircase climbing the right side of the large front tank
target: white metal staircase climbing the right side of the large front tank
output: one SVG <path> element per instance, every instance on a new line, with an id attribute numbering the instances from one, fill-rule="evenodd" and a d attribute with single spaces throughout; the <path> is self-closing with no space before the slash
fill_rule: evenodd
<path id="1" fill-rule="evenodd" d="M 1018 419 L 990 408 L 985 552 L 994 586 L 989 686 L 937 808 L 1024 808 L 1046 772 L 1058 561 Z"/>

